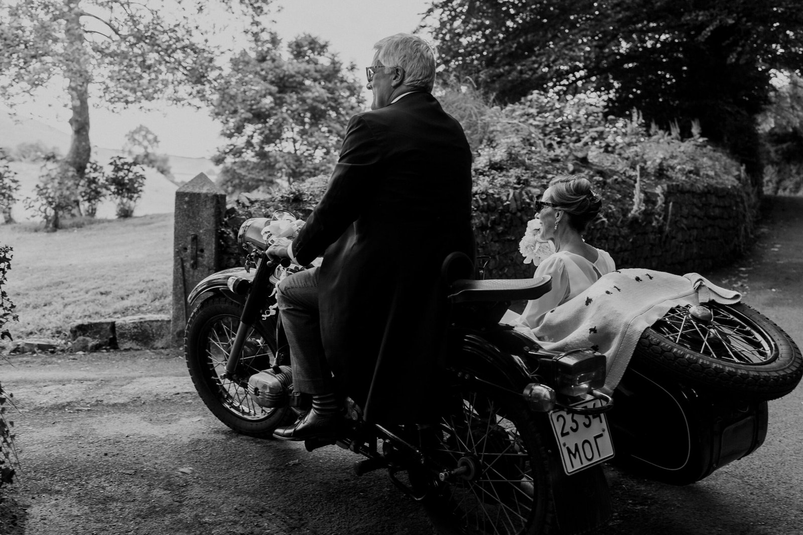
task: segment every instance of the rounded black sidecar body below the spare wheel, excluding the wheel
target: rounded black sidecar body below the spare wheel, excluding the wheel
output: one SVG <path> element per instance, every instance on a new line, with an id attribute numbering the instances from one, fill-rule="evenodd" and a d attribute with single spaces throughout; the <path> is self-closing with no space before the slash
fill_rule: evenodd
<path id="1" fill-rule="evenodd" d="M 663 483 L 691 484 L 764 443 L 767 402 L 639 368 L 631 362 L 608 415 L 617 464 Z"/>

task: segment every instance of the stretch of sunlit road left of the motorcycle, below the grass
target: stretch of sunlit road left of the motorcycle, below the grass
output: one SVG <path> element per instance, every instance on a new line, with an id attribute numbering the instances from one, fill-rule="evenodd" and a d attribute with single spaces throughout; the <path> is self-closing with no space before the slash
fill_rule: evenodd
<path id="1" fill-rule="evenodd" d="M 11 363 L 24 533 L 428 533 L 385 474 L 353 475 L 357 455 L 229 431 L 177 351 Z"/>

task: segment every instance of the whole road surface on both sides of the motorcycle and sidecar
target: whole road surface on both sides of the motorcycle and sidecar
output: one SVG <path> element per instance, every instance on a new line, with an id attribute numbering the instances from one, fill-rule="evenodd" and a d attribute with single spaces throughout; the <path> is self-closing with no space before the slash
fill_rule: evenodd
<path id="1" fill-rule="evenodd" d="M 703 275 L 801 342 L 803 198 L 772 200 L 754 253 Z M 383 472 L 353 475 L 357 455 L 230 432 L 177 351 L 14 356 L 0 377 L 19 410 L 7 496 L 27 508 L 24 533 L 430 533 Z M 608 468 L 614 516 L 596 535 L 803 534 L 803 387 L 769 410 L 764 446 L 697 484 Z"/>

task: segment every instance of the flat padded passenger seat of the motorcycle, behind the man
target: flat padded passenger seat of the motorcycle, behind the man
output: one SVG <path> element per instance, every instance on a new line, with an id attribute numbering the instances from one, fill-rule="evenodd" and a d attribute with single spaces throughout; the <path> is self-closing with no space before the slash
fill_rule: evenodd
<path id="1" fill-rule="evenodd" d="M 552 277 L 533 279 L 458 279 L 450 285 L 452 303 L 468 301 L 513 301 L 538 299 L 552 289 Z"/>

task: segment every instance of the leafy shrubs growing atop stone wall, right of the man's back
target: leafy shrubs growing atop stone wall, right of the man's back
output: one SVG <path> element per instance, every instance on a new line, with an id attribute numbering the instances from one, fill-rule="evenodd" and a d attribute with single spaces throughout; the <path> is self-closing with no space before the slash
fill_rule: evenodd
<path id="1" fill-rule="evenodd" d="M 536 187 L 559 174 L 583 174 L 605 196 L 610 224 L 638 216 L 645 202 L 637 190 L 662 183 L 738 184 L 740 166 L 696 135 L 648 127 L 641 114 L 606 116 L 597 93 L 564 97 L 533 92 L 491 115 L 489 136 L 475 160 L 476 187 Z M 657 224 L 658 222 L 653 222 Z"/>

